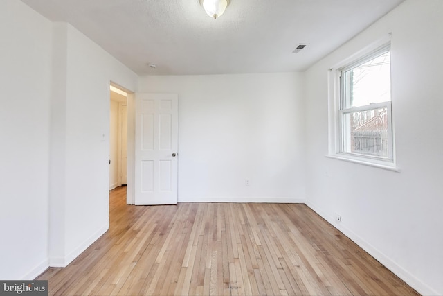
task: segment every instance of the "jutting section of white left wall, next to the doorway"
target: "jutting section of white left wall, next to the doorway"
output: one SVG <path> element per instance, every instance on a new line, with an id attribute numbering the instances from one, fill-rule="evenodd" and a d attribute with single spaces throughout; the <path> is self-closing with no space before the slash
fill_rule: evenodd
<path id="1" fill-rule="evenodd" d="M 64 162 L 55 164 L 52 174 L 64 176 L 64 190 L 51 195 L 62 202 L 51 202 L 50 224 L 64 228 L 49 237 L 49 259 L 51 266 L 65 266 L 109 227 L 109 83 L 136 90 L 137 76 L 71 25 L 54 26 L 55 43 L 66 40 L 60 49 L 66 55 L 54 53 L 66 64 L 53 69 L 55 77 L 66 76 L 66 92 L 57 98 L 64 104 L 53 105 L 52 113 L 66 116 L 53 116 L 52 122 L 64 126 L 51 139 L 64 143 L 63 151 L 54 151 L 64 154 Z M 63 105 L 66 109 L 60 110 Z"/>

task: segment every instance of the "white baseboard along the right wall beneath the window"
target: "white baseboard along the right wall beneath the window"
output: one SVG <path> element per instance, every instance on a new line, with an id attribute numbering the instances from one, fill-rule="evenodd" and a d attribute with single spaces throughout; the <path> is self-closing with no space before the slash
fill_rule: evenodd
<path id="1" fill-rule="evenodd" d="M 380 252 L 376 247 L 374 247 L 367 241 L 363 240 L 363 238 L 361 238 L 359 235 L 352 232 L 352 230 L 345 227 L 343 224 L 336 223 L 334 217 L 327 215 L 325 211 L 320 209 L 320 207 L 317 207 L 309 200 L 306 200 L 305 204 L 313 211 L 315 211 L 318 215 L 327 220 L 327 222 L 331 223 L 332 226 L 336 227 L 336 229 L 343 232 L 345 236 L 350 238 L 350 240 L 354 241 L 354 243 L 359 245 L 359 247 L 361 247 L 363 250 L 365 250 L 371 256 L 377 259 L 377 261 L 379 261 L 386 268 L 388 268 L 388 270 L 392 271 L 395 275 L 397 275 L 397 277 L 399 277 L 400 279 L 405 281 L 409 286 L 417 290 L 418 293 L 422 295 L 441 295 L 441 293 L 437 293 L 436 290 L 424 284 L 422 281 L 417 279 L 417 277 L 414 277 L 412 274 L 410 274 L 410 272 L 402 268 L 395 261 L 392 261 L 392 259 L 390 259 L 389 256 L 386 256 L 385 254 L 383 254 L 383 252 Z"/>

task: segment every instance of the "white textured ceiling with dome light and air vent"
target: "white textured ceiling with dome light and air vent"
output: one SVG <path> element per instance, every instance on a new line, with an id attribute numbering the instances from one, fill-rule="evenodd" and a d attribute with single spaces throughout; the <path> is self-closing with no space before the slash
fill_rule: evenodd
<path id="1" fill-rule="evenodd" d="M 303 71 L 403 0 L 230 0 L 218 19 L 199 0 L 22 1 L 138 75 L 181 75 Z"/>

